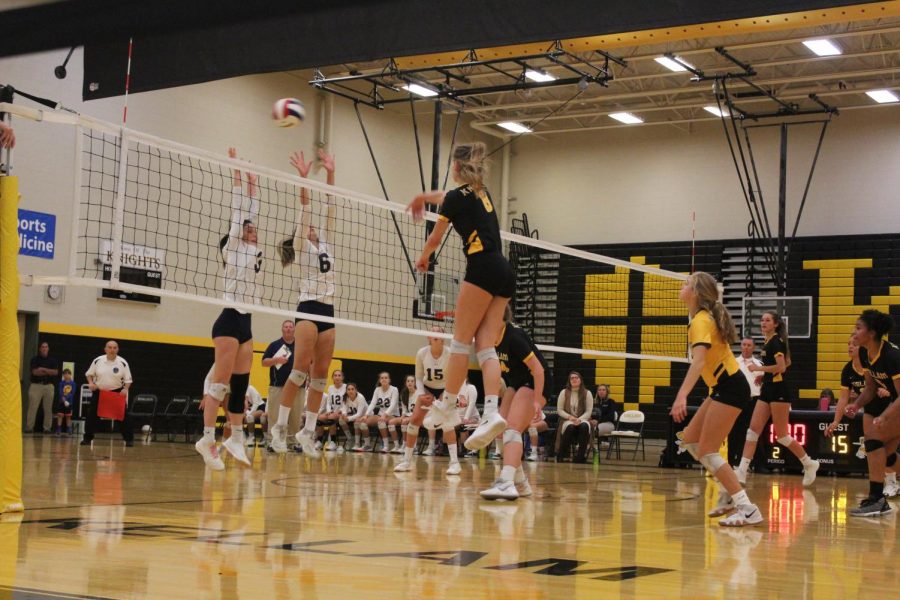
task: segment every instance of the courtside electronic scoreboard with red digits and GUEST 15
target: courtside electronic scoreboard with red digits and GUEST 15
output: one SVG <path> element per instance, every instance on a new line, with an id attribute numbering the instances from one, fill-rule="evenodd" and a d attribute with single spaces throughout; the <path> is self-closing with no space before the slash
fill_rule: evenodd
<path id="1" fill-rule="evenodd" d="M 854 419 L 844 417 L 831 437 L 825 430 L 834 420 L 833 412 L 792 410 L 788 430 L 811 458 L 819 461 L 822 471 L 832 473 L 866 473 L 863 446 L 862 415 Z M 862 456 L 862 458 L 860 458 Z M 775 470 L 801 471 L 803 467 L 794 454 L 778 443 L 775 426 L 770 422 L 759 436 L 756 447 L 757 466 Z"/>

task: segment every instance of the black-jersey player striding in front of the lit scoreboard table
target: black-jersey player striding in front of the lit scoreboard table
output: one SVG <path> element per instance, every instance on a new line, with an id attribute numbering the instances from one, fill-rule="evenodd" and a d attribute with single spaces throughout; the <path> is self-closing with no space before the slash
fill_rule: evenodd
<path id="1" fill-rule="evenodd" d="M 751 373 L 762 373 L 763 384 L 760 390 L 759 400 L 753 407 L 753 417 L 750 419 L 750 428 L 747 429 L 747 440 L 744 442 L 744 454 L 740 466 L 735 470 L 738 481 L 747 482 L 747 471 L 750 469 L 750 461 L 756 454 L 756 442 L 762 434 L 763 428 L 772 417 L 775 427 L 775 435 L 778 443 L 785 446 L 796 456 L 803 465 L 803 485 L 812 485 L 816 480 L 816 471 L 819 470 L 819 462 L 813 460 L 797 443 L 790 434 L 788 421 L 791 415 L 791 400 L 784 381 L 784 372 L 791 366 L 791 353 L 788 348 L 787 331 L 781 316 L 773 311 L 763 313 L 759 321 L 762 334 L 766 338 L 760 358 L 762 366 L 749 365 L 747 369 Z"/>

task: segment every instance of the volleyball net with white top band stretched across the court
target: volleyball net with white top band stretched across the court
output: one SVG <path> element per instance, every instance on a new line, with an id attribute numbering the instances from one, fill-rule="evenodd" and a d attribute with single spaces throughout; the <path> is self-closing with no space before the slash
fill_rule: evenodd
<path id="1" fill-rule="evenodd" d="M 432 269 L 416 273 L 427 225 L 413 222 L 404 205 L 83 115 L 9 104 L 0 111 L 75 130 L 66 272 L 23 273 L 26 284 L 302 316 L 303 273 L 295 262 L 282 263 L 281 247 L 294 239 L 304 211 L 318 242 L 327 244 L 321 272 L 332 271 L 335 284 L 335 317 L 316 319 L 426 336 L 435 321 L 452 318 L 465 274 L 461 241 L 449 232 Z M 65 151 L 57 146 L 47 153 Z M 308 204 L 301 205 L 301 192 Z M 256 304 L 223 299 L 221 243 L 236 212 L 257 228 Z M 428 214 L 426 221 L 435 219 Z M 527 315 L 523 324 L 539 347 L 585 357 L 687 360 L 687 318 L 678 300 L 685 274 L 502 235 L 517 273 L 515 314 Z M 305 243 L 300 240 L 297 255 Z M 629 308 L 635 305 L 643 310 Z M 642 329 L 645 315 L 678 326 Z M 641 336 L 639 345 L 630 343 L 630 332 Z"/>

